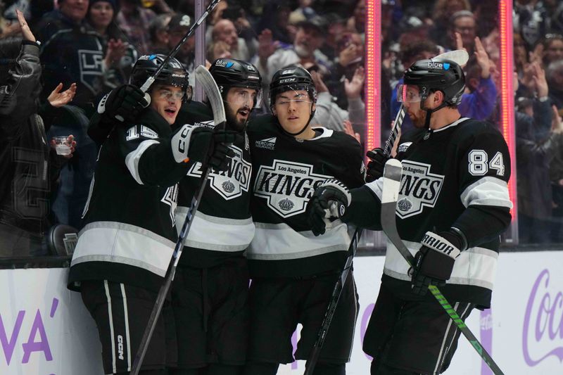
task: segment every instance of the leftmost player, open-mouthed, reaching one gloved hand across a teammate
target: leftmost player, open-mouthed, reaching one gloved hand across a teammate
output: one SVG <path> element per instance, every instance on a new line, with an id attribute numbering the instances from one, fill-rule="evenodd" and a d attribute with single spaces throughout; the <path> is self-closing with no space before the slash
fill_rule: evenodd
<path id="1" fill-rule="evenodd" d="M 140 87 L 164 59 L 139 58 L 130 83 Z M 105 374 L 131 369 L 177 239 L 177 182 L 188 170 L 186 162 L 219 170 L 227 165 L 224 143 L 234 141 L 234 134 L 187 125 L 172 132 L 190 94 L 188 73 L 172 58 L 151 86 L 150 106 L 134 122 L 113 127 L 99 152 L 68 283 L 81 286 L 96 321 Z M 175 364 L 173 323 L 165 306 L 141 374 L 164 374 Z"/>

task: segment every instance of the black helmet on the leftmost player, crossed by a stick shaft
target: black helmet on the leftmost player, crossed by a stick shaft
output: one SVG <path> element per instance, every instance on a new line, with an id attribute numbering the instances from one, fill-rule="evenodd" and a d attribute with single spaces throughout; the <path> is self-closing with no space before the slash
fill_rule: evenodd
<path id="1" fill-rule="evenodd" d="M 144 55 L 133 65 L 129 83 L 141 87 L 148 77 L 151 77 L 158 67 L 165 61 L 165 55 Z M 157 84 L 170 84 L 171 86 L 181 87 L 186 94 L 184 101 L 191 100 L 191 86 L 189 85 L 189 73 L 182 63 L 176 58 L 170 58 L 163 70 L 156 77 Z"/>

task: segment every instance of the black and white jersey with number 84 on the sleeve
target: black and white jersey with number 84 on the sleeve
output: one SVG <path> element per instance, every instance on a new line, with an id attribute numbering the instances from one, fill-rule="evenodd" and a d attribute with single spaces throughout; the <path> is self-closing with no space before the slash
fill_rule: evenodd
<path id="1" fill-rule="evenodd" d="M 507 189 L 510 154 L 502 134 L 485 122 L 461 118 L 441 129 L 417 131 L 408 141 L 401 139 L 397 158 L 403 162 L 396 209 L 401 239 L 415 255 L 426 231 L 460 229 L 469 248 L 455 260 L 441 291 L 451 301 L 488 307 L 499 234 L 510 224 L 512 208 Z M 366 184 L 379 199 L 382 185 L 383 179 Z M 382 281 L 410 293 L 408 269 L 388 242 Z"/>

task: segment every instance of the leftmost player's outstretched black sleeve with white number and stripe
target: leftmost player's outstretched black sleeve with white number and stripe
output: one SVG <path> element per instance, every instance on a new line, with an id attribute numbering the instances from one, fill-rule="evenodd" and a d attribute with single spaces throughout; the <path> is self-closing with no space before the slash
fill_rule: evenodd
<path id="1" fill-rule="evenodd" d="M 170 134 L 153 125 L 118 126 L 116 132 L 120 155 L 137 183 L 172 186 L 186 174 L 186 163 L 172 155 Z"/>

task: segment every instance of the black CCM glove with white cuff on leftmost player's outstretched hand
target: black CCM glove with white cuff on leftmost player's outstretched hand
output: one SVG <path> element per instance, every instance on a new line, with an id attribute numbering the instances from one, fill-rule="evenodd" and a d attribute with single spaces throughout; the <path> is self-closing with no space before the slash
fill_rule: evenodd
<path id="1" fill-rule="evenodd" d="M 177 163 L 194 159 L 215 170 L 227 170 L 234 151 L 229 146 L 237 132 L 184 125 L 172 136 L 172 154 Z"/>

